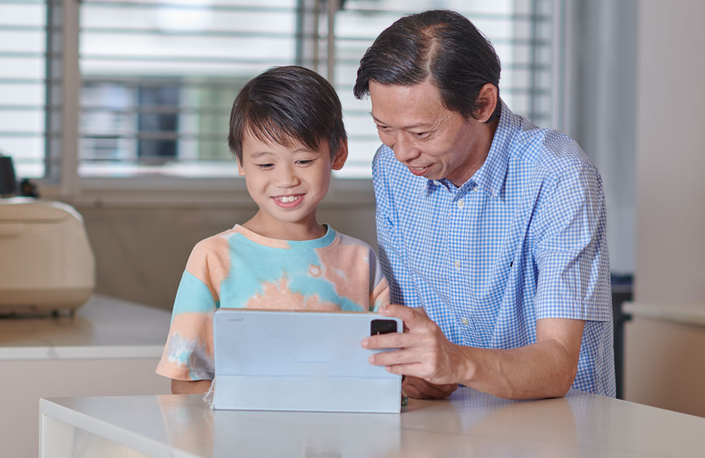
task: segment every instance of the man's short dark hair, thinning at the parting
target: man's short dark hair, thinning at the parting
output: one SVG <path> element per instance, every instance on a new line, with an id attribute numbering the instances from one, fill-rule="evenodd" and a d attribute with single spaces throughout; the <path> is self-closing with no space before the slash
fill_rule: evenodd
<path id="1" fill-rule="evenodd" d="M 494 47 L 470 20 L 455 11 L 434 10 L 405 16 L 386 28 L 367 49 L 353 92 L 369 94 L 369 81 L 417 85 L 429 78 L 443 106 L 474 118 L 477 95 L 486 83 L 497 87 L 501 66 Z M 499 116 L 499 101 L 487 122 Z"/>

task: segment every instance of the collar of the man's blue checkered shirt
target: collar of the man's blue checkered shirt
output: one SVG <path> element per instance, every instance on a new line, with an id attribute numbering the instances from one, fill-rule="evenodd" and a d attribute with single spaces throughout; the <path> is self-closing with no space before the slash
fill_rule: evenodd
<path id="1" fill-rule="evenodd" d="M 520 120 L 512 113 L 502 99 L 500 99 L 500 102 L 502 104 L 502 111 L 499 116 L 499 123 L 494 132 L 492 144 L 487 153 L 487 159 L 485 159 L 477 172 L 472 175 L 470 180 L 467 180 L 467 182 L 457 189 L 451 182 L 443 178 L 442 180 L 426 180 L 427 184 L 424 190 L 432 192 L 436 187 L 443 186 L 453 194 L 455 194 L 456 191 L 461 191 L 461 194 L 464 194 L 467 190 L 470 190 L 470 187 L 472 187 L 474 183 L 491 197 L 496 199 L 500 196 L 504 180 L 507 176 L 509 143 L 517 130 L 520 129 Z"/>

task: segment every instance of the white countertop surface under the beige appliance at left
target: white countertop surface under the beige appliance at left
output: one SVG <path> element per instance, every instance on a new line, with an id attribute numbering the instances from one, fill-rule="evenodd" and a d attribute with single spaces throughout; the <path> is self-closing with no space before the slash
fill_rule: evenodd
<path id="1" fill-rule="evenodd" d="M 0 361 L 160 357 L 171 314 L 93 295 L 75 316 L 0 318 Z"/>

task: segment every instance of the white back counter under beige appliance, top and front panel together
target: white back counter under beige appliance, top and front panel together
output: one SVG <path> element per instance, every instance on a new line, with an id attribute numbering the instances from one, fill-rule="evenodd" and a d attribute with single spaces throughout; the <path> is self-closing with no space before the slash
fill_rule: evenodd
<path id="1" fill-rule="evenodd" d="M 75 316 L 0 319 L 0 456 L 36 457 L 40 397 L 170 392 L 171 314 L 94 295 Z"/>

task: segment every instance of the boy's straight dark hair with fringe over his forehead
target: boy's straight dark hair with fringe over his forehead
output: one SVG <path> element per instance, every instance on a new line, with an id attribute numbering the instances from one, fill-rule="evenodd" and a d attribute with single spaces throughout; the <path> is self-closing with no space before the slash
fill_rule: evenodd
<path id="1" fill-rule="evenodd" d="M 245 131 L 263 142 L 285 147 L 291 140 L 317 149 L 327 140 L 333 158 L 347 139 L 343 110 L 333 86 L 321 75 L 300 66 L 266 70 L 248 81 L 235 97 L 230 113 L 228 146 L 243 162 Z"/>

